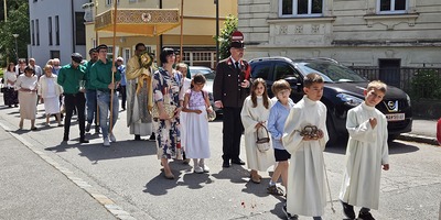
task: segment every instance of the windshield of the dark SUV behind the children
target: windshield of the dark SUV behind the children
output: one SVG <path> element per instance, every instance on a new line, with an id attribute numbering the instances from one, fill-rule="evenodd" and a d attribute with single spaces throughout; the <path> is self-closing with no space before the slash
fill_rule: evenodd
<path id="1" fill-rule="evenodd" d="M 318 73 L 324 81 L 342 82 L 342 81 L 366 81 L 365 78 L 353 72 L 352 69 L 334 64 L 332 62 L 310 62 L 301 63 L 299 68 L 303 73 Z"/>

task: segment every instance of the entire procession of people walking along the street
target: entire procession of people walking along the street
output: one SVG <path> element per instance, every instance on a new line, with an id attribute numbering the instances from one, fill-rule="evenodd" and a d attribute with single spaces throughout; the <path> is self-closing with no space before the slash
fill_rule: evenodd
<path id="1" fill-rule="evenodd" d="M 208 173 L 207 116 L 213 109 L 204 90 L 205 77 L 191 76 L 185 64 L 176 64 L 173 48 L 161 51 L 160 67 L 152 65 L 154 58 L 147 53 L 144 44 L 139 43 L 135 48 L 127 66 L 122 57 L 116 62 L 107 58 L 106 45 L 92 48 L 90 61 L 86 63 L 78 53 L 72 54 L 67 65 L 60 66 L 60 59 L 52 59 L 43 69 L 34 59 L 28 66 L 25 61 L 17 66 L 11 63 L 4 73 L 4 103 L 10 108 L 20 106 L 20 129 L 26 119 L 31 121 L 31 130 L 37 130 L 35 114 L 40 97 L 45 108 L 45 125 L 50 125 L 51 116 L 56 116 L 58 127 L 64 127 L 63 141 L 69 140 L 75 111 L 79 142 L 88 143 L 85 133 L 95 122 L 95 131 L 101 131 L 103 145 L 109 147 L 117 142 L 112 131 L 119 98 L 114 94 L 119 90 L 130 134 L 136 141 L 148 135 L 155 140 L 166 179 L 175 178 L 170 160 L 186 163 L 193 160 L 194 173 Z M 326 205 L 323 151 L 329 140 L 326 107 L 320 101 L 323 78 L 315 73 L 306 75 L 305 95 L 298 103 L 289 98 L 289 82 L 277 80 L 271 86 L 275 98 L 270 99 L 266 81 L 250 78 L 250 65 L 243 59 L 244 43 L 232 42 L 229 52 L 230 56 L 217 64 L 213 87 L 215 106 L 224 113 L 222 166 L 247 165 L 250 182 L 260 184 L 259 172 L 275 165 L 267 191 L 286 198 L 282 210 L 287 218 L 297 219 L 301 215 L 322 219 Z M 375 106 L 386 90 L 385 84 L 370 82 L 364 92 L 365 101 L 347 114 L 349 141 L 340 200 L 348 219 L 356 218 L 354 206 L 362 207 L 358 218 L 365 220 L 374 219 L 370 209 L 378 209 L 380 173 L 381 168 L 388 170 L 389 164 L 387 121 Z M 239 157 L 243 135 L 246 162 Z M 257 140 L 266 135 L 267 144 L 272 147 L 258 147 Z M 277 186 L 279 179 L 284 190 Z"/>

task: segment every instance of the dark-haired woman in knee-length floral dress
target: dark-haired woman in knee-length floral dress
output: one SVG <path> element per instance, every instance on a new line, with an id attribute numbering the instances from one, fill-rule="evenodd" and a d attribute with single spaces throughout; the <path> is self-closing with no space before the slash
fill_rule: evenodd
<path id="1" fill-rule="evenodd" d="M 174 175 L 169 166 L 169 158 L 181 158 L 181 136 L 179 131 L 179 116 L 181 106 L 179 94 L 182 84 L 182 75 L 173 69 L 175 54 L 172 48 L 163 48 L 160 54 L 162 67 L 153 76 L 153 100 L 158 106 L 159 118 L 157 130 L 158 157 L 164 166 L 164 176 L 173 179 Z M 165 111 L 165 106 L 175 108 L 174 116 L 171 117 Z"/>

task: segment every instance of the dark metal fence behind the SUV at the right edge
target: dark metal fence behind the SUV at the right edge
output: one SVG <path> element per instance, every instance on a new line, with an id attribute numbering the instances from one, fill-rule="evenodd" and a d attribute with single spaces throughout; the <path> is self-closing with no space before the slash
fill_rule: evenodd
<path id="1" fill-rule="evenodd" d="M 359 66 L 352 66 L 351 68 L 369 80 L 379 79 L 387 85 L 398 87 L 412 98 L 439 99 L 441 96 L 441 68 L 378 68 Z"/>

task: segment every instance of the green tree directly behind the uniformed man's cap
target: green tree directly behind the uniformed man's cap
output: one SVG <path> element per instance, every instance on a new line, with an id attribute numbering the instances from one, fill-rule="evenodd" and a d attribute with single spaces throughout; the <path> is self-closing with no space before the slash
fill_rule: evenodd
<path id="1" fill-rule="evenodd" d="M 229 57 L 229 43 L 232 42 L 232 33 L 237 30 L 237 18 L 229 14 L 224 22 L 224 28 L 220 30 L 219 41 L 219 58 Z"/>

